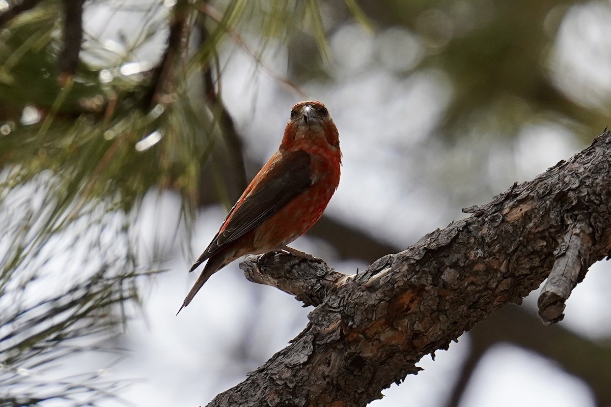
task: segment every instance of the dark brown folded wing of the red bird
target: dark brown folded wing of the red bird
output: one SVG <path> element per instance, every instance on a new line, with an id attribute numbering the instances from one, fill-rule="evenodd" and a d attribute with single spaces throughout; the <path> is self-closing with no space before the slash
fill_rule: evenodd
<path id="1" fill-rule="evenodd" d="M 225 221 L 229 219 L 227 225 L 214 236 L 210 245 L 189 271 L 195 270 L 214 253 L 218 253 L 260 225 L 288 201 L 312 185 L 310 164 L 310 154 L 305 151 L 285 153 L 282 160 L 258 181 L 254 192 L 246 196 L 239 206 L 238 204 L 233 206 L 225 219 Z"/>

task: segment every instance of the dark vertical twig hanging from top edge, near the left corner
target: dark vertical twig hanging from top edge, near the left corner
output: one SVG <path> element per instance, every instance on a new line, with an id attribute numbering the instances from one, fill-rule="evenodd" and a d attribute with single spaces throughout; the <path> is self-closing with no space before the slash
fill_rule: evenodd
<path id="1" fill-rule="evenodd" d="M 84 0 L 64 0 L 64 48 L 57 62 L 59 83 L 65 86 L 78 67 L 82 43 L 82 5 Z"/>

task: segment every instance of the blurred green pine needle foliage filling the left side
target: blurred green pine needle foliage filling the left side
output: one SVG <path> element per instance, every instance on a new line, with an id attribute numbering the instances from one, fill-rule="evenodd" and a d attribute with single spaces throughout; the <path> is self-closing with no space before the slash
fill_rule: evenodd
<path id="1" fill-rule="evenodd" d="M 82 32 L 73 7 L 81 0 L 9 2 L 0 13 L 2 407 L 97 405 L 119 391 L 103 372 L 69 366 L 90 351 L 120 357 L 113 343 L 137 311 L 139 281 L 158 271 L 138 264 L 144 195 L 179 193 L 190 226 L 206 185 L 202 164 L 219 144 L 240 145 L 220 99 L 225 38 L 259 65 L 266 43 L 251 48 L 244 40 L 254 27 L 282 41 L 310 30 L 321 52 L 327 47 L 318 1 L 179 0 L 166 8 L 100 0 L 85 11 L 100 4 L 140 13 L 123 49 L 87 26 Z M 356 3 L 347 4 L 357 15 Z M 195 21 L 207 35 L 193 47 Z M 139 61 L 136 53 L 165 30 L 161 59 Z M 198 82 L 202 93 L 193 92 Z M 235 151 L 232 160 L 242 159 Z M 236 168 L 245 179 L 243 162 Z"/>

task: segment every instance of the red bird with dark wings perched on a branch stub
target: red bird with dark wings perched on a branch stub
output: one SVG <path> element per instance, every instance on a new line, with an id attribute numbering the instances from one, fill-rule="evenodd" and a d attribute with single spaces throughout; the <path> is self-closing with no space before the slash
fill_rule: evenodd
<path id="1" fill-rule="evenodd" d="M 211 275 L 245 254 L 284 250 L 309 256 L 287 245 L 323 215 L 339 185 L 341 165 L 339 134 L 329 110 L 319 101 L 295 104 L 278 151 L 246 187 L 189 270 L 207 261 L 178 312 Z"/>

